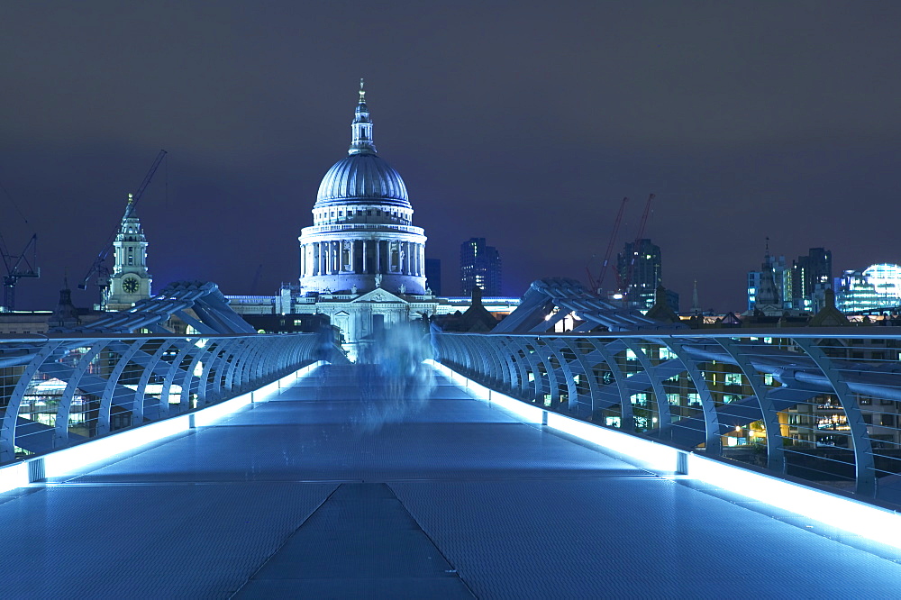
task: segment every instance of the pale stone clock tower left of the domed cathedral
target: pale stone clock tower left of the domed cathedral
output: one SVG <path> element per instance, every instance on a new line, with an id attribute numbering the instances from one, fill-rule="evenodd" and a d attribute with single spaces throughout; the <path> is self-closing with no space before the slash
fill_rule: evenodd
<path id="1" fill-rule="evenodd" d="M 111 311 L 127 310 L 139 300 L 150 297 L 150 273 L 147 272 L 147 239 L 134 210 L 132 195 L 122 217 L 122 225 L 113 242 L 115 265 L 110 278 L 106 307 Z"/>

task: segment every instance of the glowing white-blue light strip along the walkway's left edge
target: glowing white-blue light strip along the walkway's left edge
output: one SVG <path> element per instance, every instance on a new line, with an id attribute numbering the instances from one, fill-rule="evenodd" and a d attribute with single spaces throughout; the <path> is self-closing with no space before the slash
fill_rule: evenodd
<path id="1" fill-rule="evenodd" d="M 28 469 L 29 463 L 33 461 L 42 461 L 45 477 L 64 477 L 97 462 L 112 459 L 123 452 L 136 450 L 154 441 L 187 432 L 192 429 L 192 421 L 194 427 L 210 425 L 253 402 L 266 402 L 273 395 L 278 395 L 282 387 L 290 386 L 297 379 L 306 377 L 323 364 L 325 364 L 323 360 L 317 361 L 271 384 L 194 413 L 180 414 L 164 421 L 147 423 L 135 429 L 114 433 L 71 448 L 56 450 L 41 457 L 7 465 L 0 468 L 0 493 L 29 485 Z"/>

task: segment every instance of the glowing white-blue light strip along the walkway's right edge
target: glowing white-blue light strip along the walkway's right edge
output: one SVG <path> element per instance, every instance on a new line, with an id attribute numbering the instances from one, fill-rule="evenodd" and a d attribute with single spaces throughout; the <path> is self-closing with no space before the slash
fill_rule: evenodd
<path id="1" fill-rule="evenodd" d="M 433 368 L 449 377 L 457 386 L 470 390 L 482 400 L 502 405 L 517 403 L 525 409 L 547 413 L 547 426 L 560 432 L 590 441 L 605 449 L 628 456 L 661 476 L 671 476 L 678 471 L 679 455 L 684 457 L 683 467 L 687 478 L 703 481 L 711 486 L 744 495 L 770 506 L 807 517 L 845 532 L 860 535 L 871 541 L 901 548 L 901 514 L 895 511 L 869 505 L 842 495 L 830 494 L 813 487 L 796 484 L 779 477 L 757 473 L 749 469 L 735 467 L 714 459 L 708 459 L 694 452 L 686 452 L 655 441 L 642 440 L 625 432 L 599 427 L 592 423 L 578 421 L 568 416 L 543 411 L 520 400 L 499 392 L 486 392 L 481 386 L 460 373 L 433 360 L 426 360 Z M 505 403 L 502 404 L 501 399 Z M 510 408 L 516 414 L 527 414 L 529 423 L 542 423 L 530 411 Z"/>

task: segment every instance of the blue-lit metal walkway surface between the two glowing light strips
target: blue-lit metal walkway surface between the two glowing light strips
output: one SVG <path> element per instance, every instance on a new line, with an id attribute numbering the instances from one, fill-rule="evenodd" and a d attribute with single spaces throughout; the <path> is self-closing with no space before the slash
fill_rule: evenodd
<path id="1" fill-rule="evenodd" d="M 901 557 L 656 477 L 423 374 L 321 368 L 213 426 L 0 495 L 0 595 L 898 594 Z"/>

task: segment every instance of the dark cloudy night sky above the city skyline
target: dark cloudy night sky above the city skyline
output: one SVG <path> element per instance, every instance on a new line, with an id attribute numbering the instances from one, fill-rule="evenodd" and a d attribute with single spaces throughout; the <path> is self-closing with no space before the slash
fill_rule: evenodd
<path id="1" fill-rule="evenodd" d="M 42 269 L 17 308 L 75 288 L 160 149 L 138 205 L 155 289 L 296 281 L 359 77 L 445 294 L 469 237 L 507 295 L 584 280 L 623 196 L 617 250 L 651 192 L 683 309 L 696 279 L 743 310 L 767 236 L 789 261 L 833 250 L 835 275 L 901 262 L 899 24 L 898 2 L 7 1 L 0 232 L 14 252 L 37 232 Z"/>

